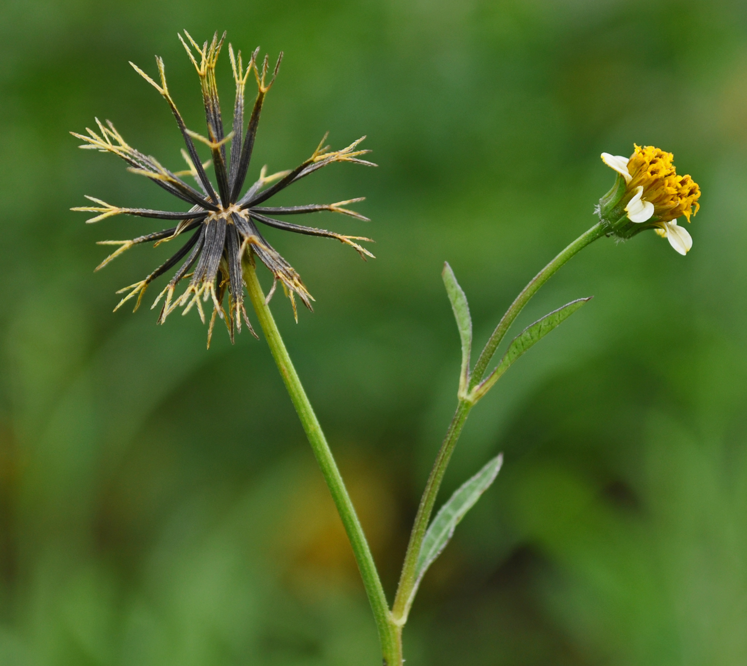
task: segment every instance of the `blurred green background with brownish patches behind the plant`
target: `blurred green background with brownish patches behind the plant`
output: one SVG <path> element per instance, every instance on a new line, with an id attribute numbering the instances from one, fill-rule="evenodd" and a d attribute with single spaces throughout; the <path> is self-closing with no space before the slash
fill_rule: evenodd
<path id="1" fill-rule="evenodd" d="M 408 666 L 747 662 L 747 6 L 737 0 L 43 1 L 0 5 L 0 664 L 377 665 L 350 548 L 267 346 L 196 313 L 111 314 L 169 247 L 105 271 L 84 194 L 173 206 L 69 130 L 111 119 L 180 166 L 167 105 L 129 65 L 164 57 L 187 124 L 199 84 L 176 39 L 227 29 L 285 61 L 250 176 L 330 131 L 335 165 L 286 203 L 365 195 L 377 259 L 268 233 L 316 297 L 291 355 L 359 506 L 388 594 L 455 406 L 448 260 L 477 344 L 595 222 L 602 151 L 675 153 L 704 192 L 681 257 L 602 239 L 521 317 L 595 295 L 474 410 L 444 495 L 505 451 L 433 567 Z M 219 63 L 223 106 L 233 86 Z M 253 99 L 249 83 L 247 96 Z M 179 202 L 176 202 L 177 206 Z M 269 285 L 267 271 L 261 274 Z M 152 299 L 161 287 L 149 294 Z M 146 303 L 149 304 L 146 297 Z M 517 327 L 518 330 L 518 327 Z"/>

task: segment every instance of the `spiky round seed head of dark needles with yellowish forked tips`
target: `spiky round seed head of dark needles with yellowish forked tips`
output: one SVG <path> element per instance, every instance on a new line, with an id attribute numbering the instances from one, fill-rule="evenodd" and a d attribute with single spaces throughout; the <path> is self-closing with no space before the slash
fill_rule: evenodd
<path id="1" fill-rule="evenodd" d="M 210 326 L 208 327 L 209 347 L 216 316 L 226 322 L 226 327 L 229 330 L 232 340 L 235 328 L 241 331 L 242 316 L 244 317 L 244 321 L 247 322 L 249 330 L 252 330 L 247 318 L 246 309 L 244 308 L 244 279 L 241 272 L 241 262 L 244 259 L 245 253 L 249 253 L 249 258 L 252 260 L 254 256 L 258 257 L 273 273 L 273 289 L 270 291 L 268 298 L 271 297 L 277 283 L 280 282 L 285 293 L 291 300 L 294 315 L 297 316 L 294 294 L 298 295 L 303 303 L 311 309 L 311 300 L 313 298 L 301 282 L 299 275 L 264 239 L 258 225 L 272 226 L 276 229 L 285 229 L 286 231 L 300 234 L 336 238 L 338 241 L 353 247 L 364 259 L 366 256 L 373 256 L 368 250 L 356 243 L 356 241 L 370 241 L 369 238 L 341 235 L 324 229 L 276 219 L 276 216 L 282 217 L 285 215 L 303 215 L 320 211 L 332 211 L 344 213 L 345 215 L 365 221 L 367 218 L 344 207 L 347 204 L 362 201 L 362 198 L 330 204 L 311 204 L 309 206 L 264 206 L 263 204 L 270 197 L 288 187 L 288 185 L 302 179 L 304 176 L 308 176 L 309 173 L 332 164 L 332 162 L 354 162 L 368 166 L 375 165 L 360 158 L 360 155 L 368 152 L 368 150 L 359 150 L 357 148 L 358 144 L 365 137 L 354 141 L 347 148 L 330 150 L 328 146 L 323 146 L 326 140 L 325 135 L 317 149 L 311 154 L 311 157 L 303 161 L 299 166 L 288 171 L 273 173 L 270 176 L 267 175 L 266 167 L 262 167 L 258 180 L 244 191 L 244 181 L 247 178 L 249 163 L 252 158 L 252 149 L 254 147 L 262 105 L 267 91 L 270 90 L 273 81 L 275 81 L 282 53 L 278 58 L 271 78 L 268 80 L 269 62 L 267 56 L 265 56 L 261 67 L 258 67 L 256 59 L 259 49 L 256 49 L 252 53 L 251 58 L 249 58 L 249 64 L 244 68 L 241 51 L 235 54 L 232 46 L 229 44 L 229 56 L 236 83 L 236 95 L 232 131 L 226 134 L 223 129 L 220 101 L 215 81 L 215 66 L 226 34 L 223 33 L 223 37 L 219 40 L 216 33 L 211 43 L 208 44 L 208 42 L 205 42 L 202 47 L 190 37 L 187 31 L 185 31 L 185 37 L 187 37 L 189 44 L 179 35 L 179 39 L 182 41 L 199 75 L 202 98 L 205 102 L 205 118 L 208 126 L 207 137 L 187 129 L 182 115 L 177 110 L 171 98 L 166 83 L 164 62 L 161 58 L 156 58 L 160 84 L 156 83 L 149 75 L 140 70 L 139 67 L 132 63 L 130 64 L 137 73 L 161 93 L 161 96 L 167 101 L 176 118 L 176 124 L 182 132 L 182 138 L 186 145 L 186 150 L 182 149 L 182 156 L 187 163 L 186 170 L 171 171 L 162 166 L 155 158 L 144 155 L 142 152 L 129 146 L 122 138 L 122 135 L 114 129 L 114 125 L 110 121 L 104 124 L 99 122 L 97 118 L 96 124 L 99 127 L 99 132 L 94 132 L 92 129 L 86 128 L 88 135 L 75 134 L 75 132 L 71 132 L 71 134 L 85 142 L 81 148 L 96 149 L 119 155 L 120 158 L 123 158 L 129 164 L 128 170 L 151 179 L 156 185 L 159 185 L 176 198 L 187 203 L 190 209 L 181 212 L 170 212 L 140 208 L 122 208 L 112 206 L 93 197 L 87 197 L 87 199 L 92 200 L 98 206 L 81 206 L 72 210 L 96 212 L 99 214 L 88 220 L 88 222 L 97 222 L 112 215 L 123 213 L 143 218 L 173 221 L 174 226 L 171 226 L 169 229 L 138 236 L 130 240 L 99 241 L 99 244 L 102 245 L 115 245 L 119 247 L 117 247 L 114 253 L 111 253 L 104 259 L 96 267 L 96 270 L 103 268 L 116 256 L 119 256 L 134 245 L 149 241 L 155 241 L 155 244 L 158 245 L 163 242 L 174 241 L 179 236 L 185 236 L 187 240 L 182 244 L 182 247 L 164 264 L 156 268 L 155 271 L 152 271 L 144 280 L 140 280 L 117 292 L 127 293 L 114 309 L 117 310 L 132 298 L 136 298 L 134 309 L 137 309 L 150 283 L 156 278 L 161 277 L 161 275 L 165 274 L 171 268 L 179 265 L 179 268 L 176 269 L 176 273 L 173 274 L 167 286 L 164 287 L 158 298 L 155 299 L 152 308 L 163 300 L 161 314 L 158 317 L 159 324 L 162 324 L 174 309 L 184 307 L 183 314 L 186 314 L 193 306 L 196 306 L 199 316 L 204 322 L 205 314 L 202 309 L 202 303 L 210 300 L 213 309 Z M 244 88 L 246 87 L 249 73 L 253 73 L 255 76 L 258 92 L 245 129 Z M 211 159 L 205 163 L 198 156 L 195 141 L 205 144 L 210 149 Z M 230 152 L 227 153 L 226 146 L 229 144 Z M 215 185 L 206 173 L 206 169 L 210 164 L 214 168 Z M 190 176 L 195 180 L 196 188 L 184 180 L 185 176 Z M 179 283 L 182 280 L 187 280 L 187 278 L 190 278 L 187 289 L 182 294 L 176 296 L 175 292 Z M 228 312 L 223 307 L 226 293 L 228 294 Z M 253 330 L 252 333 L 254 333 Z"/>

